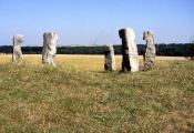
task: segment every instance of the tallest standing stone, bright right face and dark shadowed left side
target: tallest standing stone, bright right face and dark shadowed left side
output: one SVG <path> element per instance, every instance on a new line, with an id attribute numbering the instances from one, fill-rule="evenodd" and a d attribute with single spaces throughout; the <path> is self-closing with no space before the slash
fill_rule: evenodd
<path id="1" fill-rule="evenodd" d="M 122 39 L 122 71 L 136 72 L 139 71 L 139 53 L 135 42 L 135 33 L 133 29 L 126 28 L 119 31 Z"/>

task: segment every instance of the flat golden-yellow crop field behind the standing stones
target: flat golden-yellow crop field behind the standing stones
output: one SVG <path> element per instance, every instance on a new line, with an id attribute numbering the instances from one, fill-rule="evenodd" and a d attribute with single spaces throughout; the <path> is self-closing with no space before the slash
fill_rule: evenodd
<path id="1" fill-rule="evenodd" d="M 10 62 L 11 54 L 1 54 L 0 63 Z M 23 54 L 25 61 L 31 61 L 34 64 L 41 64 L 41 54 Z M 143 66 L 143 57 L 140 55 L 140 68 Z M 122 55 L 115 55 L 116 69 L 121 69 Z M 184 57 L 156 57 L 156 61 L 164 62 L 165 60 L 186 60 Z M 102 71 L 104 69 L 104 55 L 85 55 L 85 54 L 57 54 L 58 64 L 73 66 L 75 69 L 84 69 L 91 71 Z M 157 62 L 159 63 L 159 62 Z"/>

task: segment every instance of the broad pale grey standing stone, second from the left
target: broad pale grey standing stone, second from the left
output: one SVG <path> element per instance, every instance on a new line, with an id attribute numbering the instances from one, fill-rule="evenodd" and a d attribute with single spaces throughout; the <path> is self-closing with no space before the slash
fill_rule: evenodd
<path id="1" fill-rule="evenodd" d="M 42 63 L 43 64 L 57 64 L 57 41 L 58 35 L 55 32 L 44 32 L 43 34 L 43 49 L 42 49 Z"/>

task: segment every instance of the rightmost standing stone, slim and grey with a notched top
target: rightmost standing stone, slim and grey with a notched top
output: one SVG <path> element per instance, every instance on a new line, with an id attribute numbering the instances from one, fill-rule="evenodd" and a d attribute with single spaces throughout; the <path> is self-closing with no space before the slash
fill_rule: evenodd
<path id="1" fill-rule="evenodd" d="M 143 40 L 146 40 L 146 51 L 144 55 L 144 70 L 151 70 L 155 66 L 155 43 L 152 31 L 143 32 Z"/>

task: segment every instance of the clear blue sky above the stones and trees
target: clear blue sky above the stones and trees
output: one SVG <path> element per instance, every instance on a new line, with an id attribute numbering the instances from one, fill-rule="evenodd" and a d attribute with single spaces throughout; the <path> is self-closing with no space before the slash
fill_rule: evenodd
<path id="1" fill-rule="evenodd" d="M 193 8 L 193 9 L 192 9 Z M 120 44 L 118 31 L 132 28 L 136 43 L 152 30 L 156 43 L 186 43 L 194 34 L 194 0 L 0 0 L 0 45 L 42 44 L 55 31 L 59 44 Z"/>

